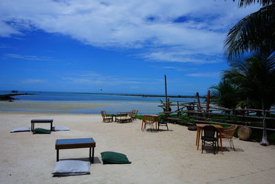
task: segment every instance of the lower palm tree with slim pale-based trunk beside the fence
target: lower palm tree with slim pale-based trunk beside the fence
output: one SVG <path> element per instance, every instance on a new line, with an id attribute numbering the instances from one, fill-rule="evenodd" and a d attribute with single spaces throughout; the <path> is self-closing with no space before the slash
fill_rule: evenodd
<path id="1" fill-rule="evenodd" d="M 265 110 L 275 103 L 275 57 L 255 55 L 245 61 L 231 61 L 230 69 L 223 71 L 223 77 L 236 85 L 241 98 L 256 102 L 263 109 L 263 139 L 261 145 L 269 145 L 266 134 Z"/>

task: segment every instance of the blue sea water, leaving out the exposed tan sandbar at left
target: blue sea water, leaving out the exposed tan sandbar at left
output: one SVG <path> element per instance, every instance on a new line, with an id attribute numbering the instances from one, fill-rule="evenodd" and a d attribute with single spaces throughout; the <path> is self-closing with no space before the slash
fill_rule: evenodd
<path id="1" fill-rule="evenodd" d="M 0 94 L 8 94 L 10 91 L 0 91 Z M 100 114 L 100 110 L 105 110 L 107 113 L 115 114 L 117 112 L 128 112 L 133 109 L 139 110 L 139 114 L 157 114 L 162 112 L 159 99 L 165 101 L 161 97 L 142 97 L 142 96 L 122 96 L 120 94 L 85 94 L 76 92 L 33 92 L 33 91 L 19 91 L 18 93 L 31 93 L 33 95 L 15 96 L 19 98 L 17 101 L 34 101 L 42 103 L 97 103 L 97 104 L 113 104 L 105 105 L 100 108 L 72 110 L 69 113 L 92 113 Z M 193 101 L 192 99 L 171 99 L 173 101 Z M 0 110 L 5 111 L 5 107 Z M 10 109 L 9 109 L 10 111 Z M 13 111 L 18 111 L 14 109 Z M 45 110 L 19 110 L 19 111 L 34 111 L 45 112 Z M 49 112 L 49 110 L 47 110 Z M 58 112 L 58 110 L 50 110 L 50 112 Z M 60 110 L 62 112 L 62 110 Z"/>

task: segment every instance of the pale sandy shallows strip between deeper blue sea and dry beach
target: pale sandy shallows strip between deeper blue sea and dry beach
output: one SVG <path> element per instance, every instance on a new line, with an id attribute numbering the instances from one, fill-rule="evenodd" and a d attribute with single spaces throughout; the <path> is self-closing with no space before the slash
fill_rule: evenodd
<path id="1" fill-rule="evenodd" d="M 111 103 L 110 103 L 111 102 Z M 0 101 L 3 112 L 37 112 L 65 114 L 100 114 L 105 110 L 109 114 L 139 110 L 139 114 L 158 114 L 162 109 L 158 103 L 144 101 Z"/>

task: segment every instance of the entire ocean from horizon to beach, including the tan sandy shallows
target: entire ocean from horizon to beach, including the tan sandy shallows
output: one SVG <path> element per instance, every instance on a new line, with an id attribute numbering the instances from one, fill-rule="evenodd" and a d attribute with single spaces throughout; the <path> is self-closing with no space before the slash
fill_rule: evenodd
<path id="1" fill-rule="evenodd" d="M 0 91 L 9 94 L 10 91 Z M 92 94 L 77 92 L 34 92 L 19 91 L 33 95 L 14 96 L 19 100 L 0 103 L 0 111 L 21 112 L 62 112 L 100 114 L 105 110 L 109 114 L 139 110 L 138 114 L 158 114 L 163 112 L 159 100 L 163 97 L 123 96 L 121 94 Z M 194 99 L 170 99 L 172 101 L 194 101 Z M 172 102 L 173 103 L 173 102 Z M 97 106 L 89 107 L 89 104 Z"/>

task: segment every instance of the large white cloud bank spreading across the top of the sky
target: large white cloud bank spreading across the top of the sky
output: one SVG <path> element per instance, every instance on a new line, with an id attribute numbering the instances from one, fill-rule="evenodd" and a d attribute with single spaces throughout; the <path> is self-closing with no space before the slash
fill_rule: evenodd
<path id="1" fill-rule="evenodd" d="M 41 29 L 102 48 L 151 48 L 140 56 L 153 61 L 209 63 L 188 56 L 221 54 L 225 32 L 258 9 L 211 0 L 1 1 L 0 36 Z"/>

